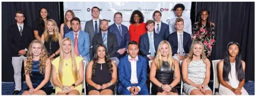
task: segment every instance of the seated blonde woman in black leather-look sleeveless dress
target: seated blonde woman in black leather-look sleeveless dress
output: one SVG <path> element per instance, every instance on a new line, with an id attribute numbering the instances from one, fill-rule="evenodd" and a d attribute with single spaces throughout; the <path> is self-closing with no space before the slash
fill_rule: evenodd
<path id="1" fill-rule="evenodd" d="M 181 80 L 179 63 L 172 58 L 171 45 L 166 40 L 161 41 L 158 46 L 150 67 L 149 79 L 154 83 L 152 91 L 156 95 L 178 95 L 175 86 Z"/>

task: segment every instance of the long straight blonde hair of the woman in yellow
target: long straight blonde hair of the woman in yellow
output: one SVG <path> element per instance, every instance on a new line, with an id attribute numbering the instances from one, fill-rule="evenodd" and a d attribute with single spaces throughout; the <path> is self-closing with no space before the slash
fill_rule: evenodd
<path id="1" fill-rule="evenodd" d="M 71 43 L 71 61 L 72 61 L 72 74 L 73 74 L 73 77 L 74 77 L 74 81 L 77 81 L 77 79 L 78 79 L 78 69 L 77 69 L 77 64 L 76 64 L 76 61 L 75 61 L 75 57 L 77 57 L 76 55 L 75 55 L 75 53 L 74 53 L 74 46 L 73 46 L 73 44 L 72 44 L 72 40 L 71 39 L 69 39 L 69 38 L 64 38 L 64 39 L 62 39 L 61 40 L 61 45 L 60 45 L 60 64 L 59 64 L 59 80 L 60 80 L 60 82 L 62 83 L 62 76 L 63 76 L 63 59 L 64 59 L 64 57 L 63 57 L 63 49 L 62 49 L 62 47 L 63 47 L 63 42 L 64 41 L 66 41 L 66 40 L 68 40 L 68 41 L 70 41 L 70 43 Z"/>

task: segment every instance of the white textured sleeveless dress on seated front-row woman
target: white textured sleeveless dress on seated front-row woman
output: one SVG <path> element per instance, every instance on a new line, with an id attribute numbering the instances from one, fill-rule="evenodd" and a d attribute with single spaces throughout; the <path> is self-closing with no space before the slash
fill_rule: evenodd
<path id="1" fill-rule="evenodd" d="M 198 61 L 191 61 L 188 65 L 188 79 L 194 82 L 197 85 L 202 85 L 203 81 L 205 81 L 205 74 L 206 74 L 206 64 L 203 63 L 202 59 Z M 195 86 L 191 86 L 188 83 L 183 84 L 184 92 L 186 94 L 190 94 L 193 89 L 198 89 Z M 206 90 L 211 90 L 208 85 L 205 87 Z"/>

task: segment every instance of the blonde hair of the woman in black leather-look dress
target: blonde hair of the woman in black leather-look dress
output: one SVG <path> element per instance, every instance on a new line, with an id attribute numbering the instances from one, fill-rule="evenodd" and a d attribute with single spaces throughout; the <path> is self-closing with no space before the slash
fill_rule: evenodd
<path id="1" fill-rule="evenodd" d="M 166 41 L 166 40 L 162 40 L 160 42 L 160 44 L 158 45 L 158 51 L 157 51 L 155 59 L 153 61 L 155 63 L 156 69 L 161 69 L 161 65 L 162 65 L 162 55 L 161 55 L 162 44 L 167 44 L 169 47 L 169 53 L 167 55 L 167 62 L 170 64 L 170 69 L 174 69 L 174 60 L 172 58 L 172 48 L 171 48 L 170 43 L 168 43 L 168 41 Z"/>

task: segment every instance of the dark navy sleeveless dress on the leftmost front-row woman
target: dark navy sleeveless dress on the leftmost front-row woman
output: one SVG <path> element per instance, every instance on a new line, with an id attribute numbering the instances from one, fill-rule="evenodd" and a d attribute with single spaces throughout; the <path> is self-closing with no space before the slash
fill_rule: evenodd
<path id="1" fill-rule="evenodd" d="M 32 72 L 31 72 L 30 80 L 32 82 L 33 88 L 37 88 L 40 83 L 44 80 L 44 74 L 40 74 L 39 70 L 39 61 L 33 61 Z M 30 88 L 27 88 L 28 91 Z M 40 90 L 44 91 L 47 95 L 52 93 L 53 86 L 51 86 L 50 81 L 44 85 Z"/>

